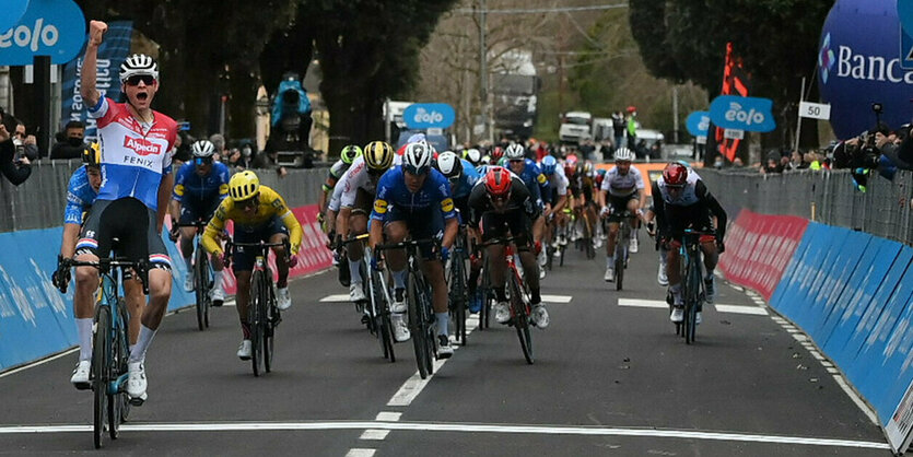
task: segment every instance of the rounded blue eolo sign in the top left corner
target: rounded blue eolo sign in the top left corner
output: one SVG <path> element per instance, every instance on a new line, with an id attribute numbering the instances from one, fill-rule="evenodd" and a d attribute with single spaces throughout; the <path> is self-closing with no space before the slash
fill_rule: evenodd
<path id="1" fill-rule="evenodd" d="M 85 17 L 75 2 L 31 0 L 17 25 L 0 34 L 0 65 L 32 65 L 35 56 L 63 65 L 77 57 L 83 42 Z"/>

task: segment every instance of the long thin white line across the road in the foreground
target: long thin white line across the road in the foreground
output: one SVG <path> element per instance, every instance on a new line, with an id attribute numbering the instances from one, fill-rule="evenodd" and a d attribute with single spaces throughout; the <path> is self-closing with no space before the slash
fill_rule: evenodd
<path id="1" fill-rule="evenodd" d="M 326 430 L 386 430 L 412 432 L 466 432 L 530 435 L 578 435 L 578 436 L 633 436 L 666 437 L 686 440 L 730 441 L 745 443 L 797 444 L 810 446 L 855 447 L 889 449 L 887 443 L 815 438 L 808 436 L 757 435 L 747 433 L 701 432 L 694 430 L 628 429 L 570 425 L 523 425 L 523 424 L 478 424 L 441 422 L 375 422 L 375 421 L 326 421 L 326 422 L 187 422 L 187 423 L 126 423 L 125 432 L 238 432 L 238 431 L 326 431 Z M 19 433 L 89 433 L 92 425 L 36 425 L 0 426 L 0 434 Z M 360 450 L 352 449 L 350 450 Z M 374 449 L 362 449 L 373 452 Z M 358 454 L 361 455 L 361 454 Z M 367 454 L 365 454 L 367 455 Z M 373 454 L 372 454 L 373 455 Z"/>

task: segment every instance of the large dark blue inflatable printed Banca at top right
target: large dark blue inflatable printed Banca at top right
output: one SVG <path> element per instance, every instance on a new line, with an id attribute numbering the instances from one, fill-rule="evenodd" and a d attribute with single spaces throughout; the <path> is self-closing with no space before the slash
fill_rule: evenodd
<path id="1" fill-rule="evenodd" d="M 898 52 L 902 3 L 908 2 L 838 0 L 824 21 L 818 84 L 822 101 L 831 105 L 831 127 L 840 139 L 875 126 L 871 104 L 876 102 L 883 109 L 881 120 L 891 128 L 913 117 L 913 71 L 902 68 Z"/>

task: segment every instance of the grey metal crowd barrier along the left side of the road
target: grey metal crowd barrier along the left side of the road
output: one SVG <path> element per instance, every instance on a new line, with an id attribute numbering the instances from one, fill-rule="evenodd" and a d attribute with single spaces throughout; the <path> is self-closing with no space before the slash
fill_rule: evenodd
<path id="1" fill-rule="evenodd" d="M 67 184 L 80 166 L 78 160 L 38 161 L 32 165 L 32 176 L 19 186 L 0 178 L 0 233 L 62 225 Z M 254 172 L 292 208 L 317 203 L 327 175 L 326 168 L 289 169 L 284 178 L 271 169 Z"/>

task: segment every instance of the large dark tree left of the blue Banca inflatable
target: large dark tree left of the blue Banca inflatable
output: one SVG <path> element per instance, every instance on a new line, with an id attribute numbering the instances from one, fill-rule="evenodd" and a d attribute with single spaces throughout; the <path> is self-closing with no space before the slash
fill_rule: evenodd
<path id="1" fill-rule="evenodd" d="M 795 104 L 800 80 L 813 77 L 821 25 L 831 2 L 816 0 L 630 0 L 630 21 L 651 72 L 690 80 L 719 92 L 726 43 L 731 42 L 751 74 L 751 94 L 774 101 L 774 109 Z M 795 109 L 782 109 L 779 128 L 795 124 Z M 817 145 L 815 129 L 804 145 Z M 763 136 L 776 139 L 781 136 Z"/>

